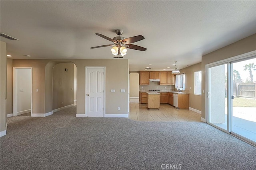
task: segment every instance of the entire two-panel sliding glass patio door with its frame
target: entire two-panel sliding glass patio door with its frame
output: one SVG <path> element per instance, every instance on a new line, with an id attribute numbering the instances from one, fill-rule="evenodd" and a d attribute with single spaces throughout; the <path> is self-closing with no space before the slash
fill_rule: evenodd
<path id="1" fill-rule="evenodd" d="M 255 52 L 207 64 L 206 96 L 208 124 L 256 145 Z"/>

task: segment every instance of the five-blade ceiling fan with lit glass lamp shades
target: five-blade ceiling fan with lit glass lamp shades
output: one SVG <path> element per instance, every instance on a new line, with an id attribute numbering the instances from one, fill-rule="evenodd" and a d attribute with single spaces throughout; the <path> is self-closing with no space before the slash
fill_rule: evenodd
<path id="1" fill-rule="evenodd" d="M 108 41 L 112 41 L 112 43 L 114 44 L 108 44 L 108 45 L 101 45 L 101 46 L 97 46 L 97 47 L 90 47 L 90 49 L 96 49 L 96 48 L 100 48 L 100 47 L 109 47 L 112 46 L 111 52 L 113 55 L 119 55 L 121 54 L 122 56 L 126 55 L 127 53 L 127 49 L 134 49 L 134 50 L 140 50 L 140 51 L 146 51 L 146 48 L 144 47 L 140 47 L 138 45 L 134 45 L 131 43 L 135 43 L 137 41 L 140 41 L 142 39 L 145 39 L 142 35 L 137 35 L 134 37 L 130 37 L 130 38 L 124 38 L 124 37 L 120 37 L 120 35 L 122 35 L 123 30 L 122 29 L 116 29 L 116 34 L 118 35 L 118 37 L 114 37 L 113 39 L 106 37 L 105 35 L 96 33 L 96 35 L 108 40 Z"/>

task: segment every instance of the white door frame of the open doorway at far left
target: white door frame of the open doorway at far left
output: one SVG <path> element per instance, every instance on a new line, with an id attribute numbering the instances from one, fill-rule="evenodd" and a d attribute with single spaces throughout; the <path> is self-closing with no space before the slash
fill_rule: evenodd
<path id="1" fill-rule="evenodd" d="M 13 103 L 13 106 L 12 106 L 12 115 L 13 116 L 17 116 L 18 115 L 18 101 L 17 101 L 17 92 L 18 92 L 18 89 L 17 89 L 17 69 L 22 69 L 22 68 L 27 68 L 27 69 L 30 69 L 31 70 L 31 93 L 30 93 L 30 100 L 31 100 L 31 107 L 30 107 L 30 116 L 32 115 L 32 108 L 33 108 L 33 67 L 13 67 L 13 84 L 12 84 L 12 103 Z"/>

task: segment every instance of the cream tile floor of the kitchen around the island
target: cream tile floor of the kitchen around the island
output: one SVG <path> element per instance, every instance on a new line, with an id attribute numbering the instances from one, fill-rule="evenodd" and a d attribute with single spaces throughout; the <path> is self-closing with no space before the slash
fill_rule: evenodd
<path id="1" fill-rule="evenodd" d="M 146 104 L 130 103 L 129 119 L 135 121 L 200 122 L 201 115 L 188 109 L 161 104 L 159 110 L 148 110 Z"/>

